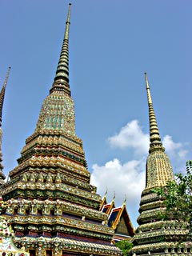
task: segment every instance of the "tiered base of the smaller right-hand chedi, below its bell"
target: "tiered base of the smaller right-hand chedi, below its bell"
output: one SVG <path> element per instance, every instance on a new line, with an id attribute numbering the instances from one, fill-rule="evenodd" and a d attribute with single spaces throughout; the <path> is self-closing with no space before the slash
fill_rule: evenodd
<path id="1" fill-rule="evenodd" d="M 163 220 L 163 201 L 146 189 L 142 192 L 138 217 L 138 229 L 134 236 L 132 255 L 192 255 L 192 246 L 185 241 L 186 223 L 178 220 Z"/>

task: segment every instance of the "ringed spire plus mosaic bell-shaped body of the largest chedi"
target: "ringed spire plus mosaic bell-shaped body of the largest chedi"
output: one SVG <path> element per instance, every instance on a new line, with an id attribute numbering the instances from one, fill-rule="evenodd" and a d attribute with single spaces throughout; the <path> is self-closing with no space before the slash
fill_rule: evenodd
<path id="1" fill-rule="evenodd" d="M 68 70 L 68 40 L 70 30 L 70 5 L 66 18 L 66 31 L 62 44 L 62 52 L 58 61 L 58 68 L 50 94 L 42 104 L 36 131 L 52 130 L 75 134 L 74 102 L 70 97 L 69 70 Z"/>

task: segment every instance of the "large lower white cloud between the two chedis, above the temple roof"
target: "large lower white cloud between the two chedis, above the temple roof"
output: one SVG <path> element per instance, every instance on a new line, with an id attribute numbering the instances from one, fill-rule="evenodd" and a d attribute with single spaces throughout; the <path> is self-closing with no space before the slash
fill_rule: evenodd
<path id="1" fill-rule="evenodd" d="M 145 188 L 145 160 L 132 160 L 122 164 L 117 158 L 106 162 L 104 166 L 92 166 L 91 184 L 98 187 L 98 194 L 108 190 L 108 202 L 115 192 L 116 206 L 121 206 L 126 194 L 127 210 L 133 225 L 136 225 L 138 207 Z"/>

